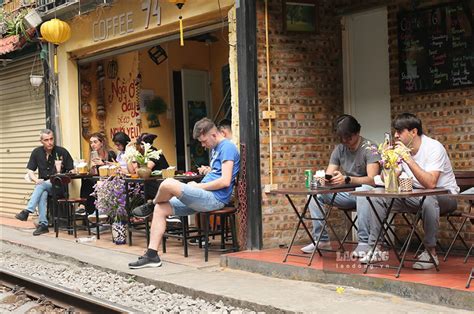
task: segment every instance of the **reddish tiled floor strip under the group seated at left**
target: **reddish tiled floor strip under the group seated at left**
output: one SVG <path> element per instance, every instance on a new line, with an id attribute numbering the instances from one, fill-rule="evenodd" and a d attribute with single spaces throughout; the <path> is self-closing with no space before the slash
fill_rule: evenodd
<path id="1" fill-rule="evenodd" d="M 33 216 L 33 217 L 30 217 L 28 221 L 19 221 L 15 218 L 2 216 L 0 217 L 0 224 L 23 229 L 25 231 L 28 230 L 28 232 L 31 231 L 31 233 L 33 233 L 33 230 L 35 229 L 35 227 L 32 221 L 34 219 L 35 217 Z M 41 235 L 41 237 L 43 236 L 55 237 L 56 234 L 53 232 L 52 228 L 49 228 L 49 233 Z M 87 237 L 87 236 L 88 236 L 87 231 L 78 230 L 78 238 Z M 59 237 L 67 241 L 72 241 L 72 242 L 75 241 L 74 236 L 68 235 L 66 231 L 60 231 Z M 132 240 L 133 240 L 132 246 L 129 246 L 128 244 L 116 245 L 112 242 L 112 233 L 108 231 L 104 234 L 101 234 L 100 240 L 97 240 L 95 242 L 83 243 L 83 244 L 94 245 L 94 246 L 109 249 L 109 250 L 126 252 L 130 254 L 135 254 L 137 256 L 142 255 L 143 252 L 146 250 L 145 235 L 133 234 Z M 159 248 L 159 250 L 161 252 L 161 247 Z M 211 266 L 215 267 L 215 266 L 218 266 L 220 263 L 219 252 L 210 251 L 209 261 L 206 263 L 204 262 L 204 250 L 200 249 L 198 246 L 193 246 L 193 245 L 189 245 L 188 250 L 189 250 L 188 257 L 185 258 L 184 249 L 183 249 L 183 246 L 181 245 L 181 242 L 176 239 L 169 239 L 168 241 L 166 241 L 166 254 L 160 253 L 160 257 L 166 260 L 167 262 L 188 265 L 188 266 L 193 266 L 197 268 L 211 267 Z"/>

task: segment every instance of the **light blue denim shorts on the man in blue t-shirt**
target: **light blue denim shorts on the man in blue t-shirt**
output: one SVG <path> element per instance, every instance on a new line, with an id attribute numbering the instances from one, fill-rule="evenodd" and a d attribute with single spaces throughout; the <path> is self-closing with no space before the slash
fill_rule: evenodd
<path id="1" fill-rule="evenodd" d="M 221 209 L 225 204 L 217 200 L 210 191 L 182 184 L 181 196 L 170 199 L 170 205 L 173 215 L 188 216 Z"/>

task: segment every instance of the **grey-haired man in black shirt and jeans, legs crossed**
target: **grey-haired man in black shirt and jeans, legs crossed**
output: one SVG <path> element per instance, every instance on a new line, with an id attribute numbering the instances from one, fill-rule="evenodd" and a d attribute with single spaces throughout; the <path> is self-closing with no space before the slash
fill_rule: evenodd
<path id="1" fill-rule="evenodd" d="M 27 177 L 36 184 L 35 189 L 26 209 L 15 216 L 16 219 L 26 221 L 29 214 L 33 213 L 35 208 L 38 207 L 39 221 L 36 230 L 33 232 L 34 236 L 49 232 L 48 218 L 46 216 L 48 194 L 52 190 L 49 177 L 58 172 L 68 172 L 74 168 L 74 162 L 69 152 L 63 147 L 54 145 L 53 131 L 49 129 L 41 130 L 40 142 L 42 146 L 35 148 L 31 152 L 30 160 L 26 166 Z M 58 171 L 56 161 L 59 160 L 61 161 L 61 166 Z M 59 168 L 59 162 L 57 164 Z M 34 173 L 36 170 L 38 170 L 38 176 Z"/>

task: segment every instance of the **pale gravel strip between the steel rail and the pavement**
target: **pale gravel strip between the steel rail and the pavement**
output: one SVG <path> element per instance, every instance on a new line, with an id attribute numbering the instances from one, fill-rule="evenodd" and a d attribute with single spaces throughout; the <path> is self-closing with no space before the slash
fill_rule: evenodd
<path id="1" fill-rule="evenodd" d="M 5 269 L 27 274 L 45 282 L 90 294 L 133 308 L 139 312 L 160 313 L 255 313 L 247 309 L 209 303 L 177 293 L 168 293 L 153 285 L 136 282 L 73 261 L 58 260 L 48 253 L 2 243 L 0 263 Z"/>

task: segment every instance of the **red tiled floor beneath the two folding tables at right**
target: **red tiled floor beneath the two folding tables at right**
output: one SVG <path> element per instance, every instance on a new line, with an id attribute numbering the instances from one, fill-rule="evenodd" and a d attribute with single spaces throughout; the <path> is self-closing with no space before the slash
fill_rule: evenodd
<path id="1" fill-rule="evenodd" d="M 295 247 L 292 253 L 301 253 L 300 247 Z M 468 278 L 468 274 L 472 267 L 474 267 L 474 257 L 471 257 L 466 264 L 463 263 L 464 257 L 450 255 L 446 262 L 440 258 L 440 271 L 437 272 L 435 269 L 431 270 L 414 270 L 411 268 L 412 262 L 407 262 L 406 267 L 402 268 L 400 277 L 395 278 L 395 269 L 388 269 L 380 267 L 374 267 L 369 269 L 367 274 L 363 274 L 363 266 L 358 261 L 349 259 L 338 259 L 335 252 L 323 252 L 323 257 L 315 255 L 311 266 L 308 266 L 308 259 L 301 257 L 288 257 L 286 263 L 283 263 L 285 257 L 286 248 L 280 249 L 267 249 L 262 251 L 252 252 L 237 252 L 231 253 L 229 256 L 238 257 L 242 259 L 256 260 L 260 262 L 276 263 L 276 264 L 288 264 L 297 267 L 310 267 L 316 270 L 324 270 L 339 273 L 351 273 L 360 274 L 360 276 L 371 276 L 378 278 L 386 278 L 389 280 L 401 280 L 412 283 L 423 283 L 431 286 L 446 287 L 453 289 L 460 289 L 466 291 L 465 285 Z M 410 254 L 410 258 L 413 257 L 413 253 Z M 386 264 L 384 264 L 386 265 Z M 390 254 L 388 265 L 398 266 L 397 259 L 393 253 Z M 474 292 L 474 281 L 471 284 L 469 290 Z"/>

